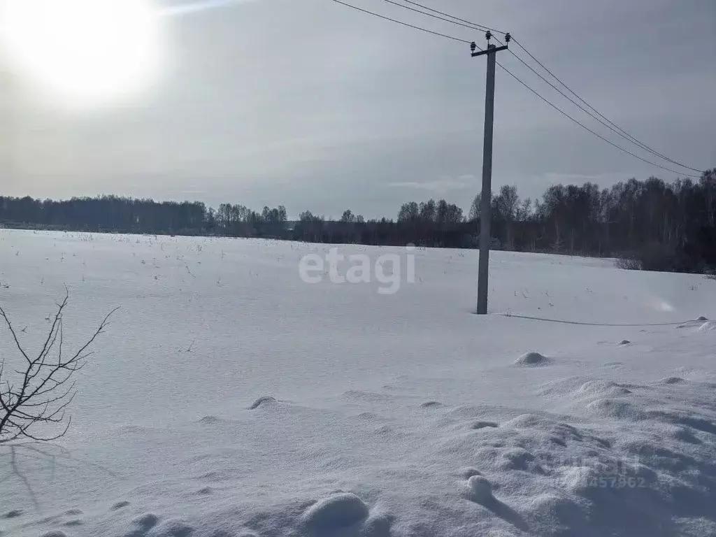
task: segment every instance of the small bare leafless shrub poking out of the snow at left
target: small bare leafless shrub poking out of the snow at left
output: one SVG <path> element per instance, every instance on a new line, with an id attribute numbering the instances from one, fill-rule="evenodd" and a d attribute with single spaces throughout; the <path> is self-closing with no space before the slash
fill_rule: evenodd
<path id="1" fill-rule="evenodd" d="M 17 339 L 17 334 L 5 310 L 0 306 L 0 317 L 5 321 L 16 349 L 21 354 L 22 367 L 15 369 L 18 382 L 11 382 L 5 372 L 5 359 L 0 359 L 0 443 L 16 438 L 50 441 L 64 436 L 72 422 L 72 417 L 64 416 L 67 407 L 74 399 L 74 381 L 72 374 L 87 364 L 93 352 L 89 347 L 105 331 L 110 316 L 119 308 L 110 311 L 86 343 L 74 354 L 64 354 L 64 334 L 62 331 L 62 311 L 67 306 L 69 292 L 64 300 L 57 304 L 57 313 L 52 319 L 47 339 L 37 357 L 29 354 Z M 64 427 L 62 432 L 52 437 L 31 434 L 34 425 L 54 425 Z"/>

